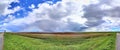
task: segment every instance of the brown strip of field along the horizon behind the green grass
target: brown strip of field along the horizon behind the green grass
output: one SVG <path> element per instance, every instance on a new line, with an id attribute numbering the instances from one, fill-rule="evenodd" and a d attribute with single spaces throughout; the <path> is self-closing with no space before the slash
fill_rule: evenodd
<path id="1" fill-rule="evenodd" d="M 57 38 L 90 38 L 90 37 L 98 37 L 98 36 L 109 36 L 111 35 L 109 32 L 85 32 L 85 33 L 79 33 L 79 32 L 54 32 L 54 33 L 45 33 L 45 32 L 20 32 L 20 33 L 13 33 L 21 36 L 27 36 L 32 38 L 50 38 L 50 37 L 57 37 Z"/>

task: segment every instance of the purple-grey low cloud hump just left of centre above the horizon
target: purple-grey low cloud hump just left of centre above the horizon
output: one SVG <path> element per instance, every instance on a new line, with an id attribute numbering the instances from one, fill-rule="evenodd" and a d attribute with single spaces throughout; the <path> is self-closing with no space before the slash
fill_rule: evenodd
<path id="1" fill-rule="evenodd" d="M 62 23 L 53 20 L 39 20 L 33 23 L 32 26 L 37 26 L 43 31 L 52 32 L 62 26 Z"/>

